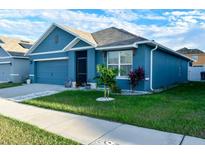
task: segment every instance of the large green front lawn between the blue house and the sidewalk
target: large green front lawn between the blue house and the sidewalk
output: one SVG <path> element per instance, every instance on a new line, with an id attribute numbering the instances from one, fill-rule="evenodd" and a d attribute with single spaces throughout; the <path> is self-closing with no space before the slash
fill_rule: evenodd
<path id="1" fill-rule="evenodd" d="M 101 96 L 99 91 L 65 91 L 24 103 L 205 138 L 205 83 L 152 95 L 113 95 L 111 103 L 96 102 Z"/>

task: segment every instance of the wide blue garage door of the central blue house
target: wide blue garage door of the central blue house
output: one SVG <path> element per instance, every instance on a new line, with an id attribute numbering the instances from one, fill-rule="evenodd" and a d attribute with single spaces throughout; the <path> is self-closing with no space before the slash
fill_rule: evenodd
<path id="1" fill-rule="evenodd" d="M 68 59 L 35 62 L 36 82 L 63 85 L 68 79 Z"/>

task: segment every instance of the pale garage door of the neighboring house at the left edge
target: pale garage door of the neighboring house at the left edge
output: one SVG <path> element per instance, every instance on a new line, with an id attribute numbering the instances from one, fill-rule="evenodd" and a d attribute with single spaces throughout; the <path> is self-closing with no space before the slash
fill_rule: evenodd
<path id="1" fill-rule="evenodd" d="M 0 82 L 10 81 L 11 65 L 8 63 L 0 64 Z"/>

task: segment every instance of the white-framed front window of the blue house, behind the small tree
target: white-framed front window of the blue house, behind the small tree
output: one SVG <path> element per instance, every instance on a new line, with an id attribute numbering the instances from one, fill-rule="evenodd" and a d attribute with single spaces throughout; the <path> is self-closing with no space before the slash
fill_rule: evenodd
<path id="1" fill-rule="evenodd" d="M 127 77 L 132 69 L 132 51 L 110 51 L 107 55 L 107 65 L 118 69 L 118 76 Z"/>

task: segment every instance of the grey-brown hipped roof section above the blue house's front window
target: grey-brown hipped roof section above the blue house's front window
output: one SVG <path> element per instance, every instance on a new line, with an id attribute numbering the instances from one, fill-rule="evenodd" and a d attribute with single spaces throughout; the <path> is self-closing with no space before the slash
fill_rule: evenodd
<path id="1" fill-rule="evenodd" d="M 92 33 L 98 47 L 129 45 L 139 41 L 145 41 L 146 38 L 134 35 L 123 29 L 116 27 L 106 28 Z"/>

